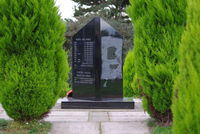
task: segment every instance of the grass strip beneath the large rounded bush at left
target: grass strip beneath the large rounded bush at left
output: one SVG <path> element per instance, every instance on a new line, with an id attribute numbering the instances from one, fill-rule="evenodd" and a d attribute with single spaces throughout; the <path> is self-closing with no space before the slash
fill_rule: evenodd
<path id="1" fill-rule="evenodd" d="M 50 129 L 49 122 L 20 123 L 0 119 L 0 134 L 48 134 Z"/>

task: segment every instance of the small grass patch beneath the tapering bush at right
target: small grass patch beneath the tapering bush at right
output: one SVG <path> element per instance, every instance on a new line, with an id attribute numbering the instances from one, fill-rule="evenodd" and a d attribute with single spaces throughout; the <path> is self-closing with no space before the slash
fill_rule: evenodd
<path id="1" fill-rule="evenodd" d="M 151 129 L 151 134 L 172 134 L 171 126 L 159 126 L 154 119 L 150 119 L 147 125 Z"/>

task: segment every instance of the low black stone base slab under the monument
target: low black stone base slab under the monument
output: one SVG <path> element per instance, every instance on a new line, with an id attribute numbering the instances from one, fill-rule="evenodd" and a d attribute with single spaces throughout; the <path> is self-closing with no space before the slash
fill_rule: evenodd
<path id="1" fill-rule="evenodd" d="M 102 99 L 99 101 L 65 98 L 62 109 L 134 109 L 134 101 L 129 98 Z"/>

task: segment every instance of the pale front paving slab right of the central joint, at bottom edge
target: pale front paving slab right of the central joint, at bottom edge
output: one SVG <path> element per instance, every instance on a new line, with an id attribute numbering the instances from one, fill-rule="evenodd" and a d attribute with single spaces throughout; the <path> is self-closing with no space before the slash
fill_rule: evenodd
<path id="1" fill-rule="evenodd" d="M 146 122 L 103 122 L 102 134 L 149 134 Z"/>

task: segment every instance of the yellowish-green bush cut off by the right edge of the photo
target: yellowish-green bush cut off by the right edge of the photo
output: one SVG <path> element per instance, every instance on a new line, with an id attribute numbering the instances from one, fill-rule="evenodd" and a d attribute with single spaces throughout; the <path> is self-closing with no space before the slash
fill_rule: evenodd
<path id="1" fill-rule="evenodd" d="M 187 26 L 174 86 L 173 133 L 200 133 L 200 1 L 188 0 Z"/>

